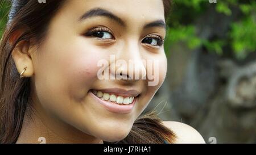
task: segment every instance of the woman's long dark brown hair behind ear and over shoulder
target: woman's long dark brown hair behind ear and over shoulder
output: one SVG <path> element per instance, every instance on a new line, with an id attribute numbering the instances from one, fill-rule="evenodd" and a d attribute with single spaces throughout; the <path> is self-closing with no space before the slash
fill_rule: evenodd
<path id="1" fill-rule="evenodd" d="M 41 43 L 47 26 L 64 0 L 39 3 L 35 0 L 13 0 L 6 30 L 0 44 L 0 143 L 16 143 L 24 115 L 30 108 L 30 78 L 19 78 L 11 52 L 20 41 Z M 165 17 L 171 7 L 163 0 Z M 22 33 L 10 41 L 16 31 Z M 173 143 L 174 133 L 162 124 L 155 112 L 139 116 L 129 135 L 117 143 Z"/>

